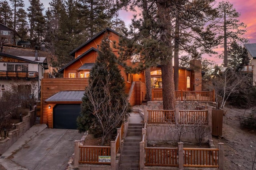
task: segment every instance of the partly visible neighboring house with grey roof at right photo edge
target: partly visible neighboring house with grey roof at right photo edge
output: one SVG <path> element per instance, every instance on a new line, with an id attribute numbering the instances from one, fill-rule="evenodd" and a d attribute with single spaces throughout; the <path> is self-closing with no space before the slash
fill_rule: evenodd
<path id="1" fill-rule="evenodd" d="M 256 65 L 256 43 L 244 44 L 244 52 L 250 58 L 250 63 L 244 70 L 252 71 L 253 85 L 256 85 L 256 69 L 253 68 Z"/>

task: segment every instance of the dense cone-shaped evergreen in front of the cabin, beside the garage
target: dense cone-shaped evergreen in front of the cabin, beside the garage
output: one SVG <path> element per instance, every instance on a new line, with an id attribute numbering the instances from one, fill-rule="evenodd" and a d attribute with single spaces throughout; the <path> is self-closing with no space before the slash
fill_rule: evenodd
<path id="1" fill-rule="evenodd" d="M 82 111 L 77 119 L 79 131 L 86 131 L 96 124 L 91 130 L 100 132 L 102 144 L 105 139 L 110 139 L 110 134 L 129 111 L 124 87 L 117 58 L 105 37 L 82 98 Z"/>

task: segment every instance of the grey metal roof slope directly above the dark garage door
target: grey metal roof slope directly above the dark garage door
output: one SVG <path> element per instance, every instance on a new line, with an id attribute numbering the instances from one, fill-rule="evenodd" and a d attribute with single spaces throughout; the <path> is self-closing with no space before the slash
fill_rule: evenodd
<path id="1" fill-rule="evenodd" d="M 84 91 L 60 91 L 45 101 L 82 101 Z"/>

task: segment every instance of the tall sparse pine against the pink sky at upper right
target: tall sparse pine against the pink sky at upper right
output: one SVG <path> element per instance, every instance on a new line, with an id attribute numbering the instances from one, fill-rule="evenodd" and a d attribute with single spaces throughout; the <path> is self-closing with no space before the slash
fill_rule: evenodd
<path id="1" fill-rule="evenodd" d="M 218 11 L 217 18 L 209 24 L 209 28 L 217 35 L 219 44 L 224 48 L 224 53 L 220 57 L 224 58 L 224 67 L 227 67 L 228 47 L 231 43 L 246 43 L 248 41 L 242 37 L 246 32 L 243 28 L 246 28 L 246 26 L 238 20 L 241 14 L 233 8 L 233 4 L 230 4 L 230 2 L 219 2 L 216 10 Z"/>

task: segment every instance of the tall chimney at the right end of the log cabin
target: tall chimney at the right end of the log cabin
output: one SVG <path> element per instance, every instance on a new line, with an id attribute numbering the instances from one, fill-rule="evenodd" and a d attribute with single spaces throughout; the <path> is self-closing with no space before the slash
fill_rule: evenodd
<path id="1" fill-rule="evenodd" d="M 192 69 L 190 82 L 192 91 L 202 91 L 202 62 L 201 60 L 193 59 L 190 61 Z"/>

